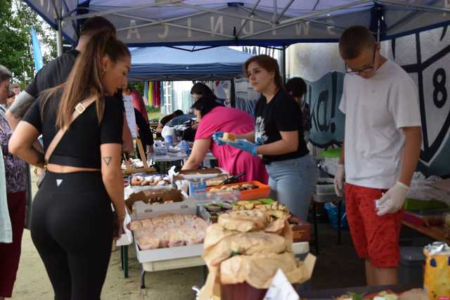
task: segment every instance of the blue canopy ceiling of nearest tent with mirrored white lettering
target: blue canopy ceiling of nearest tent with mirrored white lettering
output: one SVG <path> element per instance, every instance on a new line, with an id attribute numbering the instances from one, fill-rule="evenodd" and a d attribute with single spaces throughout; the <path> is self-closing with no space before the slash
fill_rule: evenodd
<path id="1" fill-rule="evenodd" d="M 25 0 L 77 40 L 79 21 L 103 15 L 129 46 L 271 45 L 338 41 L 351 25 L 371 27 L 383 8 L 382 39 L 450 24 L 449 0 Z M 60 9 L 62 1 L 62 13 Z M 55 9 L 55 6 L 58 9 Z M 372 20 L 372 22 L 371 22 Z"/>

